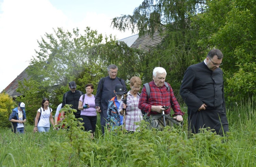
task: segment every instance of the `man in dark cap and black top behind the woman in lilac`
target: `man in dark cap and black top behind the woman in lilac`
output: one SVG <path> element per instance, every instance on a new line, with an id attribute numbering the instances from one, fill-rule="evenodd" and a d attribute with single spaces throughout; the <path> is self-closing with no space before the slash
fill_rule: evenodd
<path id="1" fill-rule="evenodd" d="M 77 110 L 76 113 L 74 113 L 75 118 L 81 118 L 80 116 L 81 110 L 78 109 L 78 103 L 79 103 L 80 97 L 83 95 L 83 92 L 76 90 L 75 81 L 69 82 L 69 89 L 70 91 L 63 94 L 61 108 L 63 108 L 66 104 L 72 105 L 71 108 Z"/>

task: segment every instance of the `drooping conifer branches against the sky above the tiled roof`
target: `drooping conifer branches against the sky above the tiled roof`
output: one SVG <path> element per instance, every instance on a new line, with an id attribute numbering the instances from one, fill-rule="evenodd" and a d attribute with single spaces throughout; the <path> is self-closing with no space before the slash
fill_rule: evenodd
<path id="1" fill-rule="evenodd" d="M 194 0 L 144 0 L 134 9 L 133 15 L 115 17 L 112 25 L 119 31 L 139 30 L 139 35 L 185 30 L 189 25 L 189 14 L 201 12 L 204 1 Z M 164 25 L 164 26 L 163 26 Z"/>

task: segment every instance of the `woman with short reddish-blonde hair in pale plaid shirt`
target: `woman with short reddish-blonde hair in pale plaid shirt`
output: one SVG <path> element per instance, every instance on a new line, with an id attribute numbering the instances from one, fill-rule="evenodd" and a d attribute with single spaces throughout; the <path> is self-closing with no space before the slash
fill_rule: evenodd
<path id="1" fill-rule="evenodd" d="M 124 109 L 126 108 L 125 115 L 125 129 L 127 131 L 136 131 L 139 125 L 136 125 L 136 122 L 140 122 L 143 119 L 141 110 L 138 108 L 141 89 L 141 79 L 137 76 L 134 76 L 130 79 L 130 88 L 131 90 L 127 93 L 127 103 L 126 105 L 121 101 L 120 106 Z M 119 113 L 123 114 L 123 108 L 119 107 Z M 137 131 L 139 131 L 137 129 Z"/>

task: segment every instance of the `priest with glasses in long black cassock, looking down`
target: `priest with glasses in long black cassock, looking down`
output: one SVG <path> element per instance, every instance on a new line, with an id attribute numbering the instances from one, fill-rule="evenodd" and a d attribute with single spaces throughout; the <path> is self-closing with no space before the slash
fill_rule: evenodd
<path id="1" fill-rule="evenodd" d="M 188 130 L 192 133 L 207 127 L 219 135 L 228 131 L 223 72 L 219 68 L 222 59 L 222 52 L 212 49 L 203 62 L 189 66 L 184 73 L 180 94 L 188 107 Z"/>

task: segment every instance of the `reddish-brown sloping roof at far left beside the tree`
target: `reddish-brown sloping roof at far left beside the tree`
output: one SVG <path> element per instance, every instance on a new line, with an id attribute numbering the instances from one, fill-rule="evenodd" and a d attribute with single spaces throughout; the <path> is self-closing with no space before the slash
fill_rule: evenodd
<path id="1" fill-rule="evenodd" d="M 29 79 L 28 73 L 26 70 L 29 67 L 27 67 L 22 73 L 20 73 L 5 89 L 5 93 L 14 97 L 14 96 L 20 96 L 22 94 L 18 93 L 16 90 L 18 88 L 18 81 L 23 81 L 24 79 Z"/>

